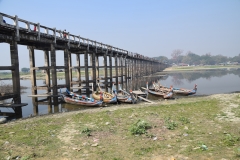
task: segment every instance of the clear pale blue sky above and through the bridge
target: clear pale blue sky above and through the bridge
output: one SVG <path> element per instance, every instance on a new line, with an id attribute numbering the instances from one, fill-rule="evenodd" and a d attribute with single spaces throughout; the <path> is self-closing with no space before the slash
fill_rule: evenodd
<path id="1" fill-rule="evenodd" d="M 240 0 L 0 0 L 0 12 L 148 57 L 240 54 Z M 27 47 L 18 50 L 20 68 L 29 68 Z M 9 65 L 8 44 L 0 55 Z"/>

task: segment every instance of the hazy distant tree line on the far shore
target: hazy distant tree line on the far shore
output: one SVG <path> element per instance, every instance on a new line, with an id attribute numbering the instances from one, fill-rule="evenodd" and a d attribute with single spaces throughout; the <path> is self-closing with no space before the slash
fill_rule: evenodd
<path id="1" fill-rule="evenodd" d="M 186 55 L 182 55 L 183 50 L 174 50 L 171 54 L 171 59 L 165 56 L 154 57 L 162 63 L 168 64 L 188 64 L 188 65 L 216 65 L 216 64 L 227 64 L 234 62 L 240 64 L 240 54 L 234 57 L 227 57 L 223 55 L 213 56 L 211 53 L 199 56 L 191 51 L 188 51 Z"/>

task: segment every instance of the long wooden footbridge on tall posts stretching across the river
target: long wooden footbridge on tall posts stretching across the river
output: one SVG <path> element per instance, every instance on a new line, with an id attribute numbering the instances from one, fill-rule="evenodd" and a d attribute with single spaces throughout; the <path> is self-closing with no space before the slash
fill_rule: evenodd
<path id="1" fill-rule="evenodd" d="M 7 23 L 5 20 L 7 20 Z M 11 20 L 13 24 L 9 24 Z M 69 32 L 64 33 L 62 30 L 49 28 L 4 13 L 0 13 L 0 42 L 10 45 L 11 65 L 0 65 L 0 70 L 10 70 L 12 72 L 13 84 L 13 93 L 0 96 L 0 100 L 13 98 L 13 105 L 15 106 L 21 106 L 22 104 L 18 58 L 21 54 L 18 53 L 18 44 L 27 46 L 29 50 L 32 95 L 36 95 L 33 98 L 36 102 L 39 101 L 37 98 L 38 90 L 51 92 L 52 95 L 47 97 L 46 101 L 56 104 L 59 88 L 66 87 L 73 90 L 84 86 L 87 94 L 89 94 L 90 84 L 93 84 L 93 88 L 96 90 L 98 82 L 106 91 L 112 87 L 113 82 L 116 84 L 121 82 L 128 88 L 129 80 L 162 71 L 167 67 L 166 64 L 159 63 L 153 58 L 73 35 Z M 43 51 L 44 66 L 35 66 L 37 61 L 35 59 L 35 49 Z M 56 65 L 56 51 L 64 52 L 64 66 Z M 72 54 L 76 56 L 77 66 L 72 66 Z M 84 55 L 84 64 L 80 64 L 80 55 Z M 100 57 L 103 58 L 102 66 L 99 63 Z M 58 84 L 57 82 L 58 69 L 65 71 L 65 84 Z M 45 73 L 46 85 L 37 86 L 37 70 L 42 70 Z M 84 76 L 81 75 L 81 70 L 84 70 Z M 73 80 L 73 72 L 77 72 L 77 80 Z M 100 72 L 103 72 L 104 75 L 100 76 Z M 21 115 L 21 112 L 21 107 L 15 107 L 15 113 Z"/>

